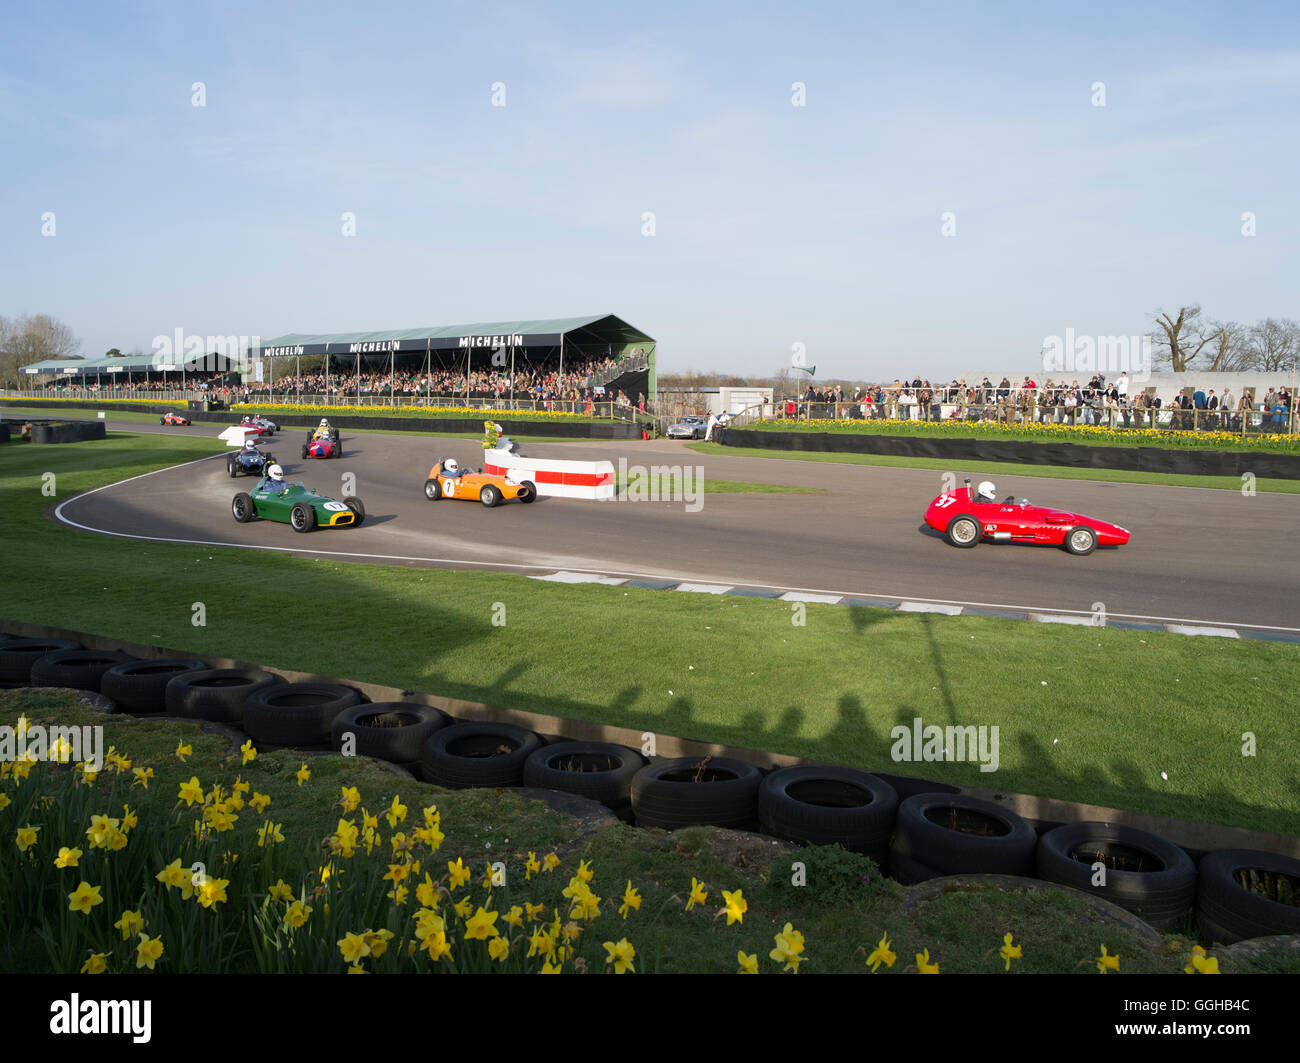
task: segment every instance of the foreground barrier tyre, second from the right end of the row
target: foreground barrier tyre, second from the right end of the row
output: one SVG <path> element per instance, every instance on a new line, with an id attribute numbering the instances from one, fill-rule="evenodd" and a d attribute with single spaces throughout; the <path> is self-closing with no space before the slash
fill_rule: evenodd
<path id="1" fill-rule="evenodd" d="M 1092 885 L 1092 864 L 1124 856 L 1132 869 L 1106 868 Z M 1196 864 L 1158 834 L 1112 823 L 1069 823 L 1039 838 L 1039 878 L 1101 897 L 1157 929 L 1179 925 L 1196 901 Z"/>

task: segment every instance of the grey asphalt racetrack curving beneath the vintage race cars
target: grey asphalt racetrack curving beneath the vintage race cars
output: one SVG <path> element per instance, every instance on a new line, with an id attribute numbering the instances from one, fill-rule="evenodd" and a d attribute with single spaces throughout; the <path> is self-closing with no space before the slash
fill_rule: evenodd
<path id="1" fill-rule="evenodd" d="M 220 431 L 212 425 L 109 426 Z M 58 507 L 58 519 L 135 538 L 372 564 L 537 576 L 568 570 L 1049 612 L 1089 613 L 1101 603 L 1113 619 L 1300 629 L 1296 495 L 991 477 L 1000 496 L 1027 496 L 1132 530 L 1127 546 L 1075 557 L 1046 546 L 948 546 L 922 521 L 941 490 L 941 473 L 933 470 L 702 455 L 670 441 L 536 443 L 523 450 L 536 457 L 610 459 L 616 468 L 620 457 L 630 467 L 685 464 L 701 467 L 706 480 L 819 493 L 706 493 L 696 512 L 681 500 L 554 498 L 488 509 L 478 502 L 432 503 L 422 490 L 439 456 L 481 467 L 476 441 L 344 433 L 344 457 L 303 460 L 304 438 L 304 430 L 290 429 L 264 448 L 287 480 L 322 495 L 341 498 L 343 474 L 355 476 L 355 494 L 365 503 L 361 526 L 300 534 L 270 521 L 237 524 L 230 502 L 256 481 L 229 478 L 224 454 L 79 495 Z M 963 470 L 952 472 L 959 483 Z"/>

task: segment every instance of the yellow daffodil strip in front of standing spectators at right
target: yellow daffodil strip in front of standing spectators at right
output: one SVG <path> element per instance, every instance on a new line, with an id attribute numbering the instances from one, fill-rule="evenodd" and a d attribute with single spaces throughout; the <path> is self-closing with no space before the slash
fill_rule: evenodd
<path id="1" fill-rule="evenodd" d="M 1271 416 L 1271 415 L 1270 415 Z M 1300 454 L 1300 435 L 1252 433 L 1244 439 L 1232 431 L 1170 431 L 1152 428 L 1108 425 L 1056 425 L 997 421 L 759 421 L 754 431 L 816 431 L 850 435 L 927 435 L 945 439 L 1008 439 L 1044 443 L 1084 443 L 1091 447 L 1174 447 L 1213 451 L 1268 451 Z"/>

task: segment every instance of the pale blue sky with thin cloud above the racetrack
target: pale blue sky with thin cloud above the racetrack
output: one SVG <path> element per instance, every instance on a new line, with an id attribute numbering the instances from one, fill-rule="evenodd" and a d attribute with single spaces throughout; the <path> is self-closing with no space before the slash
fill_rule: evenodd
<path id="1" fill-rule="evenodd" d="M 798 342 L 864 379 L 1028 370 L 1180 303 L 1300 317 L 1297 29 L 1292 4 L 9 4 L 0 313 L 99 356 L 611 312 L 667 370 L 767 376 Z"/>

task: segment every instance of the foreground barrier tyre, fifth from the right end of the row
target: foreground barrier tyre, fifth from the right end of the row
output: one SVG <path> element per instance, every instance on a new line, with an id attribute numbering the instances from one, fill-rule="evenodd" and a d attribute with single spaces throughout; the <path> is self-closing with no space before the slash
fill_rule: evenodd
<path id="1" fill-rule="evenodd" d="M 760 778 L 753 764 L 725 756 L 660 760 L 633 777 L 632 812 L 638 826 L 664 830 L 697 824 L 748 829 L 758 819 Z"/>

